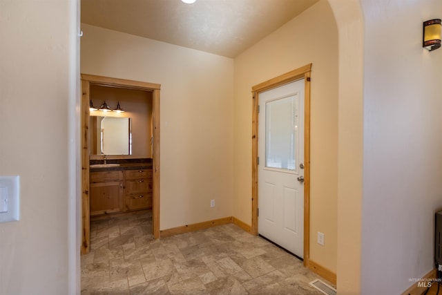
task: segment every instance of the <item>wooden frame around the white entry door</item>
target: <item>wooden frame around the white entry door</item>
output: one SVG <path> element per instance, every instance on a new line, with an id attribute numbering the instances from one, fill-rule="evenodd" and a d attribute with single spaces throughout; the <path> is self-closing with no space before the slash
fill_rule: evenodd
<path id="1" fill-rule="evenodd" d="M 310 74 L 311 64 L 292 70 L 251 88 L 252 107 L 252 148 L 251 148 L 251 233 L 258 235 L 258 106 L 262 91 L 304 79 L 304 266 L 309 265 L 310 255 Z"/>

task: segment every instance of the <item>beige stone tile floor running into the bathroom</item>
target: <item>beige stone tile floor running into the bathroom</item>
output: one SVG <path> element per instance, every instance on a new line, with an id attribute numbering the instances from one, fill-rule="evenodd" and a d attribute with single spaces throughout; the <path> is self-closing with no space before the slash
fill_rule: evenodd
<path id="1" fill-rule="evenodd" d="M 90 222 L 81 294 L 322 294 L 302 261 L 236 225 L 154 240 L 151 211 Z"/>

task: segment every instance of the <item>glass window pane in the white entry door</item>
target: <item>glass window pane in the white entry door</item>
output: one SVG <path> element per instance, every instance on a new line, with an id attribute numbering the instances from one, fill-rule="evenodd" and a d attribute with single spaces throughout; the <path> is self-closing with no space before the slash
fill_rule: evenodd
<path id="1" fill-rule="evenodd" d="M 265 166 L 296 171 L 298 95 L 265 104 Z"/>

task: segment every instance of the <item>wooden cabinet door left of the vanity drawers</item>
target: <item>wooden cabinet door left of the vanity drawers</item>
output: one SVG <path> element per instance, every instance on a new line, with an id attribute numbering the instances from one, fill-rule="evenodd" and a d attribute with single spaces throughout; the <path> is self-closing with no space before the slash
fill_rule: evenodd
<path id="1" fill-rule="evenodd" d="M 90 184 L 90 215 L 122 211 L 122 182 Z"/>

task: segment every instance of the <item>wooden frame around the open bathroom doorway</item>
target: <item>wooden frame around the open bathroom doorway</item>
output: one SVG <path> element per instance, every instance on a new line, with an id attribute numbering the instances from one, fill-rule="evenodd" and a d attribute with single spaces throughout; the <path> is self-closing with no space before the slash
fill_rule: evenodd
<path id="1" fill-rule="evenodd" d="M 90 249 L 89 212 L 89 102 L 90 86 L 148 91 L 153 97 L 153 236 L 160 238 L 160 89 L 161 84 L 81 74 L 81 254 Z"/>

